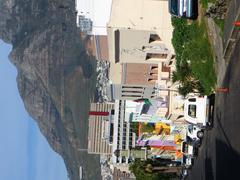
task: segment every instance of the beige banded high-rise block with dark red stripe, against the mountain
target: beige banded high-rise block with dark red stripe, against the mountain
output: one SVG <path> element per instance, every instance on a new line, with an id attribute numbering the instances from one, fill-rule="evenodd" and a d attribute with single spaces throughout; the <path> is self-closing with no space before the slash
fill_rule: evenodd
<path id="1" fill-rule="evenodd" d="M 88 153 L 112 154 L 114 104 L 92 103 L 90 110 L 109 112 L 108 116 L 90 115 L 88 120 Z"/>

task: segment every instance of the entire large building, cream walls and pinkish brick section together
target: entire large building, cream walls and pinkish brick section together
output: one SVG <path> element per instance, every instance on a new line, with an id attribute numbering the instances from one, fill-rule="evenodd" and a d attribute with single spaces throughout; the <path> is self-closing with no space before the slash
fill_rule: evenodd
<path id="1" fill-rule="evenodd" d="M 159 115 L 181 114 L 175 101 L 177 86 L 171 81 L 175 69 L 172 31 L 168 1 L 112 1 L 107 32 L 115 99 L 158 97 L 168 102 Z"/>

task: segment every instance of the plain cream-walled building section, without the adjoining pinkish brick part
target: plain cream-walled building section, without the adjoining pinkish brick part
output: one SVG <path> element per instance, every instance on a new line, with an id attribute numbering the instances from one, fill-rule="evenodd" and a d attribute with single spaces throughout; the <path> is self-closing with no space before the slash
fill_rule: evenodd
<path id="1" fill-rule="evenodd" d="M 164 0 L 113 0 L 108 23 L 113 63 L 169 62 L 173 27 Z"/>

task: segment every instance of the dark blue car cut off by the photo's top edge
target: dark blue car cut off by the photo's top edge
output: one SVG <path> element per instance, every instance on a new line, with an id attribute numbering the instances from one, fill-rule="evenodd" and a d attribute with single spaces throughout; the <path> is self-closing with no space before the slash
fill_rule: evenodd
<path id="1" fill-rule="evenodd" d="M 198 16 L 198 0 L 168 0 L 168 9 L 172 16 L 196 19 Z"/>

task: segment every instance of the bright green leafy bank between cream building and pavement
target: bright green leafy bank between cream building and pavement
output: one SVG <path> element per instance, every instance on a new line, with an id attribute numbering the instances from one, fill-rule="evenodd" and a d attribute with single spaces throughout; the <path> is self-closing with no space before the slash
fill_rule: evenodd
<path id="1" fill-rule="evenodd" d="M 173 18 L 172 43 L 176 53 L 177 64 L 187 62 L 191 73 L 203 87 L 202 94 L 211 94 L 216 84 L 214 58 L 207 36 L 204 21 L 193 21 L 188 25 L 184 19 Z"/>

